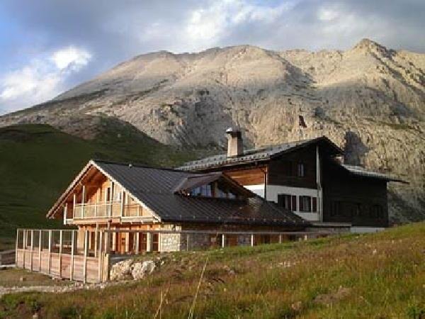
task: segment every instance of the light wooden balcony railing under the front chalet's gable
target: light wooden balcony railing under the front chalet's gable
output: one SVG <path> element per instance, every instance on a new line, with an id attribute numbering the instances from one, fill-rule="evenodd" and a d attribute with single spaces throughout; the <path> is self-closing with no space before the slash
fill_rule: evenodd
<path id="1" fill-rule="evenodd" d="M 143 216 L 142 207 L 139 204 L 128 204 L 123 207 L 121 201 L 107 203 L 76 204 L 73 218 L 109 218 L 109 217 L 137 217 Z"/>

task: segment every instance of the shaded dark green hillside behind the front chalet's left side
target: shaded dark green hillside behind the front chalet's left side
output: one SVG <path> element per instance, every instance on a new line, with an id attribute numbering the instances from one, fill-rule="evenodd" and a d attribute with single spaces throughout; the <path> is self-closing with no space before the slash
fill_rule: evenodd
<path id="1" fill-rule="evenodd" d="M 193 158 L 142 135 L 130 125 L 103 120 L 95 140 L 48 125 L 0 128 L 0 250 L 13 245 L 16 227 L 45 228 L 45 213 L 91 158 L 171 166 Z"/>

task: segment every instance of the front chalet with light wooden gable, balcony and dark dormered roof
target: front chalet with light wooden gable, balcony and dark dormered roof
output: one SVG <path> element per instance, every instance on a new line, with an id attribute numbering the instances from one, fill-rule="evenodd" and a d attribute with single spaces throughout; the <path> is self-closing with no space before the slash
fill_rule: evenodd
<path id="1" fill-rule="evenodd" d="M 222 245 L 214 231 L 300 231 L 309 223 L 292 211 L 265 201 L 221 172 L 193 173 L 91 160 L 47 213 L 64 225 L 89 233 L 89 251 L 98 230 L 112 233 L 111 253 L 176 251 Z M 145 230 L 145 232 L 143 232 Z M 196 230 L 191 242 L 181 233 Z M 208 230 L 200 234 L 199 230 Z M 78 236 L 77 247 L 85 245 Z M 228 235 L 226 245 L 277 241 L 277 237 Z M 28 241 L 27 241 L 28 242 Z M 190 247 L 189 247 L 190 246 Z"/>

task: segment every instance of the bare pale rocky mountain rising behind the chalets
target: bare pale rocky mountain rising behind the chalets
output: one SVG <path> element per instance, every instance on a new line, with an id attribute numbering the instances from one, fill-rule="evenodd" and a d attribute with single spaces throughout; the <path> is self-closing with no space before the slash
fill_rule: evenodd
<path id="1" fill-rule="evenodd" d="M 0 117 L 93 138 L 112 116 L 181 147 L 246 146 L 327 135 L 346 161 L 396 174 L 395 222 L 425 218 L 425 54 L 361 40 L 351 50 L 271 51 L 250 45 L 134 57 L 52 101 Z"/>

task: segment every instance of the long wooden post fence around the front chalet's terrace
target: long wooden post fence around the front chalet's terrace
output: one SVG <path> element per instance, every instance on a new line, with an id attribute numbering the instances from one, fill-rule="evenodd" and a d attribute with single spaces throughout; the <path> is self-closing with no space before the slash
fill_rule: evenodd
<path id="1" fill-rule="evenodd" d="M 109 279 L 109 271 L 113 262 L 134 254 L 234 245 L 254 246 L 338 234 L 335 232 L 212 230 L 18 229 L 16 233 L 16 267 L 58 278 L 101 282 Z"/>

